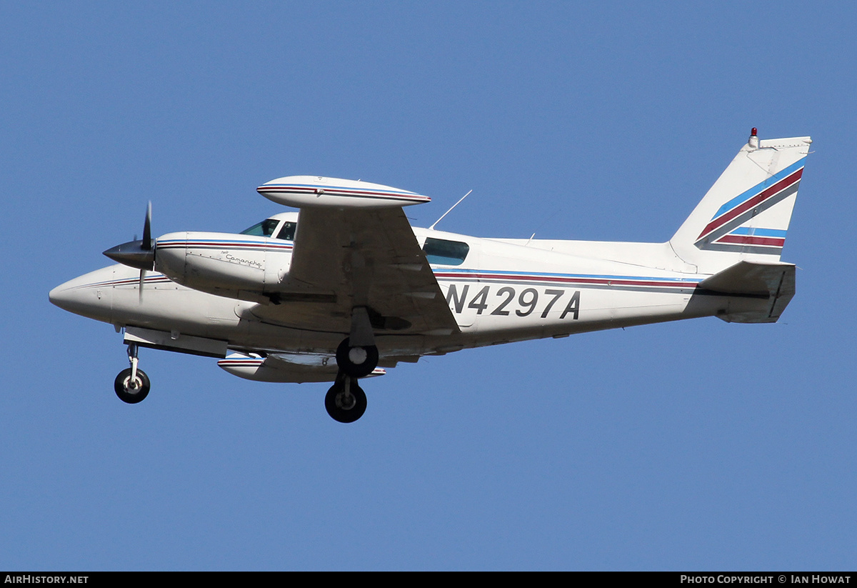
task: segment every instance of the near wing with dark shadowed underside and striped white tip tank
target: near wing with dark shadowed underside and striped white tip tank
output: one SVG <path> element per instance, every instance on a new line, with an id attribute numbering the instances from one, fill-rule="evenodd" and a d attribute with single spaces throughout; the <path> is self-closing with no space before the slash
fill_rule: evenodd
<path id="1" fill-rule="evenodd" d="M 349 333 L 352 309 L 366 307 L 376 334 L 458 333 L 402 210 L 416 203 L 411 200 L 427 201 L 425 196 L 349 180 L 318 178 L 319 188 L 295 179 L 259 188 L 274 201 L 302 208 L 285 291 L 275 299 L 279 304 L 256 307 L 255 315 L 289 327 Z M 354 194 L 355 185 L 362 194 Z M 316 200 L 298 201 L 298 189 L 300 198 Z M 291 192 L 284 196 L 285 190 Z"/>

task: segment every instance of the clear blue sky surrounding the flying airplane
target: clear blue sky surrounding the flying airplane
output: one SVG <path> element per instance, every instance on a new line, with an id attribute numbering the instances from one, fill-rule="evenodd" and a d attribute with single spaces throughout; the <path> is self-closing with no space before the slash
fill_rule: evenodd
<path id="1" fill-rule="evenodd" d="M 2 3 L 0 568 L 842 569 L 857 554 L 851 3 Z M 243 381 L 55 285 L 361 177 L 482 237 L 663 241 L 756 126 L 812 135 L 776 325 Z M 830 279 L 836 277 L 836 284 Z"/>

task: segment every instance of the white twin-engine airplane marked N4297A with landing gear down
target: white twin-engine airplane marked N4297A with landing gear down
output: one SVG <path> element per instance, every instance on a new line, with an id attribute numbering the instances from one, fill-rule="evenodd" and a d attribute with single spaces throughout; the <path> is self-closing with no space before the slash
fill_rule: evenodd
<path id="1" fill-rule="evenodd" d="M 51 302 L 124 329 L 120 399 L 149 392 L 137 350 L 221 357 L 257 381 L 333 381 L 340 423 L 366 410 L 361 378 L 468 347 L 699 316 L 775 322 L 794 296 L 780 253 L 809 137 L 756 129 L 667 243 L 487 239 L 411 227 L 426 196 L 331 177 L 257 190 L 297 207 L 240 234 L 176 232 L 105 251 L 119 265 Z"/>

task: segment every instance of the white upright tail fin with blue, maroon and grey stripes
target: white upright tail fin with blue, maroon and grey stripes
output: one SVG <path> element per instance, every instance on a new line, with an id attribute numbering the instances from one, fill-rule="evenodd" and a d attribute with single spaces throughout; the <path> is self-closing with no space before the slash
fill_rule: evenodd
<path id="1" fill-rule="evenodd" d="M 669 244 L 698 273 L 738 261 L 779 261 L 809 137 L 750 140 L 723 171 Z"/>

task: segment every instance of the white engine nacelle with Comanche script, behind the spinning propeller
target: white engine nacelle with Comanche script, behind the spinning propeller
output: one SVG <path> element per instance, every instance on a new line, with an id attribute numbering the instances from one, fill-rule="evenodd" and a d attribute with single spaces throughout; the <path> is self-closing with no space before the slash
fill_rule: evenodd
<path id="1" fill-rule="evenodd" d="M 219 296 L 275 293 L 291 265 L 292 243 L 231 233 L 177 232 L 155 243 L 155 269 L 178 284 Z"/>

